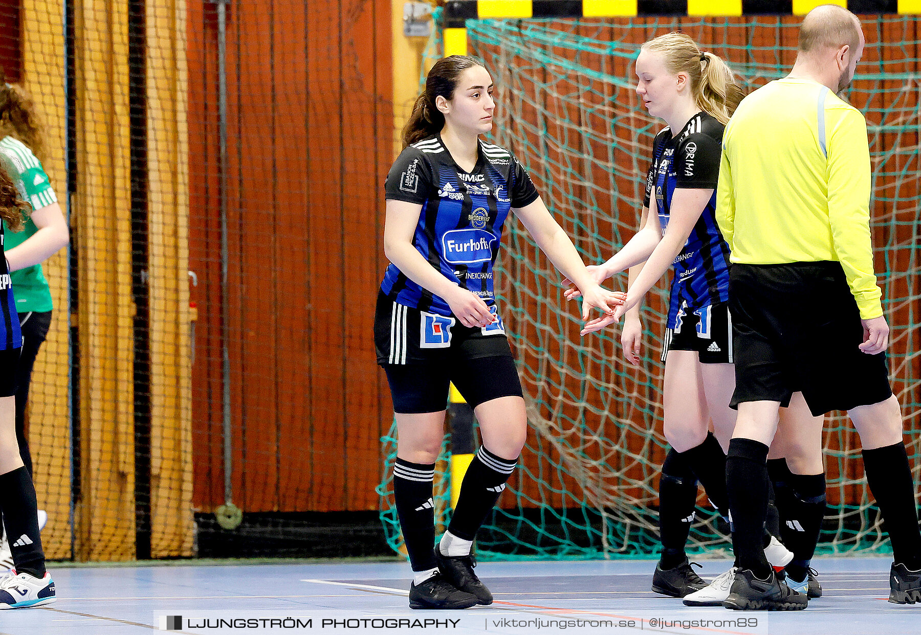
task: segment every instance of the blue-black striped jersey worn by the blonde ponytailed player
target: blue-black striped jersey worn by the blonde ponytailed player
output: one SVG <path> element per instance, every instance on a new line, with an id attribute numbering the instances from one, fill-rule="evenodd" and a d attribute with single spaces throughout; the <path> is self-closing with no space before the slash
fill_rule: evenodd
<path id="1" fill-rule="evenodd" d="M 645 205 L 648 207 L 655 195 L 663 234 L 669 225 L 675 189 L 714 190 L 682 252 L 673 262 L 669 329 L 676 328 L 683 314 L 729 300 L 729 245 L 716 219 L 722 139 L 723 124 L 705 112 L 698 112 L 681 133 L 672 135 L 671 130 L 665 128 L 656 135 L 652 145 Z"/>

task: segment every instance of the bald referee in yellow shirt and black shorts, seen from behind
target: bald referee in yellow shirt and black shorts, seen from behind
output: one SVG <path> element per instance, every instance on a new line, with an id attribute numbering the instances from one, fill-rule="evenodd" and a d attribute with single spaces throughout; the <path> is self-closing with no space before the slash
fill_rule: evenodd
<path id="1" fill-rule="evenodd" d="M 723 135 L 717 222 L 732 250 L 729 307 L 739 410 L 726 472 L 735 582 L 724 606 L 806 606 L 761 548 L 768 445 L 802 391 L 813 415 L 847 410 L 892 542 L 890 602 L 921 601 L 921 534 L 886 364 L 869 233 L 867 124 L 836 93 L 864 48 L 857 16 L 813 9 L 787 77 L 743 99 Z"/>

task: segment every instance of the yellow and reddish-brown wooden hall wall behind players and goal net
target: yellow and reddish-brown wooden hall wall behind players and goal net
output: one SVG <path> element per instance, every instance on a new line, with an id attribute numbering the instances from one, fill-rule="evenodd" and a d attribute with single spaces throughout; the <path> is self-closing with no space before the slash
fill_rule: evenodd
<path id="1" fill-rule="evenodd" d="M 238 532 L 245 539 L 320 518 L 311 514 L 365 513 L 379 525 L 379 439 L 391 424 L 371 338 L 384 264 L 381 185 L 398 147 L 407 90 L 417 86 L 423 47 L 402 37 L 401 5 L 228 2 L 222 161 L 216 3 L 0 2 L 0 63 L 9 80 L 24 83 L 44 115 L 46 143 L 55 149 L 45 168 L 67 202 L 72 229 L 70 253 L 45 267 L 55 313 L 29 414 L 40 507 L 50 514 L 42 533 L 50 558 L 189 556 L 201 552 L 208 537 L 233 534 L 213 515 L 227 502 L 226 451 L 230 498 L 244 512 L 242 529 L 252 530 Z M 728 31 L 694 27 L 691 35 L 708 42 L 728 33 L 762 48 L 789 46 L 795 29 L 778 22 L 798 21 L 770 18 Z M 700 22 L 660 19 L 653 29 L 647 18 L 612 18 L 607 32 L 639 43 Z M 627 24 L 635 28 L 624 29 Z M 882 55 L 887 68 L 894 63 L 904 73 L 921 72 L 914 43 L 911 50 L 874 46 L 919 40 L 914 18 L 898 29 L 867 29 L 867 36 L 865 60 Z M 740 62 L 732 54 L 741 52 L 733 51 L 730 61 Z M 630 69 L 621 64 L 617 72 L 629 79 Z M 858 75 L 860 94 L 879 99 L 862 81 Z M 916 88 L 903 96 L 915 110 Z M 533 87 L 522 89 L 533 93 Z M 872 112 L 873 143 L 895 144 L 892 129 L 872 127 Z M 557 114 L 560 125 L 578 120 L 577 112 Z M 525 108 L 510 117 L 528 120 L 536 113 Z M 629 134 L 624 128 L 624 138 Z M 917 147 L 916 128 L 898 135 L 899 144 Z M 633 192 L 633 204 L 645 166 L 614 156 L 618 190 Z M 890 176 L 874 183 L 881 196 L 873 213 L 892 222 L 877 225 L 875 244 L 912 244 L 917 208 L 905 202 L 921 194 L 917 154 L 884 160 L 892 163 L 885 170 Z M 553 168 L 532 174 L 552 207 L 564 204 L 554 198 L 563 174 Z M 585 175 L 601 183 L 609 176 Z M 625 223 L 635 224 L 635 206 L 614 203 L 602 197 L 599 207 L 618 209 L 628 216 Z M 584 225 L 566 228 L 589 248 Z M 915 248 L 880 248 L 878 254 L 878 271 L 898 272 L 892 294 L 914 298 L 892 305 L 891 321 L 892 352 L 902 364 L 892 369 L 895 388 L 906 405 L 906 429 L 916 429 L 921 341 L 911 327 L 921 289 L 916 275 L 905 274 L 918 267 L 916 239 Z M 504 300 L 519 303 L 525 314 L 558 304 L 557 294 L 534 276 L 500 282 Z M 651 307 L 660 312 L 658 301 L 652 298 Z M 527 320 L 510 316 L 507 323 L 528 359 L 527 342 L 544 335 Z M 558 330 L 551 353 L 565 359 L 571 354 L 565 342 L 579 341 L 577 329 L 564 322 Z M 612 346 L 600 353 L 619 354 Z M 598 370 L 591 364 L 586 372 Z M 523 379 L 526 389 L 540 389 L 537 377 Z M 649 377 L 627 375 L 623 391 L 658 403 L 659 385 Z M 580 396 L 578 404 L 570 397 L 541 416 L 590 417 L 609 407 L 597 391 Z M 636 408 L 631 399 L 612 408 L 638 428 L 660 419 L 658 406 Z M 616 438 L 623 431 L 609 432 Z M 642 479 L 636 457 L 661 460 L 659 445 L 629 435 L 619 441 L 627 450 L 616 457 L 622 476 Z M 853 448 L 856 433 L 844 432 L 834 443 Z M 553 444 L 538 441 L 535 447 L 522 460 L 530 474 L 542 474 L 548 457 L 554 464 L 559 457 Z M 585 448 L 598 460 L 606 451 Z M 917 456 L 918 446 L 909 453 Z M 862 469 L 856 461 L 845 466 L 847 484 L 841 494 L 830 491 L 829 500 L 858 504 L 865 495 L 857 482 Z M 517 478 L 526 506 L 564 500 L 553 493 L 544 499 L 537 482 Z M 560 489 L 579 487 L 568 477 L 563 481 Z M 255 531 L 260 527 L 265 531 Z M 277 551 L 269 545 L 265 553 Z"/>

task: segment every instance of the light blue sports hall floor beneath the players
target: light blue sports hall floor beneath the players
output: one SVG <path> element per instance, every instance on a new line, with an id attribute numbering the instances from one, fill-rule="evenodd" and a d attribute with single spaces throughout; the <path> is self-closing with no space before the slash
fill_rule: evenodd
<path id="1" fill-rule="evenodd" d="M 729 567 L 702 564 L 705 578 Z M 824 595 L 790 613 L 683 606 L 649 590 L 651 560 L 481 563 L 495 603 L 465 611 L 411 610 L 402 562 L 58 565 L 58 601 L 0 611 L 0 633 L 921 633 L 921 604 L 887 601 L 889 565 L 813 560 Z"/>

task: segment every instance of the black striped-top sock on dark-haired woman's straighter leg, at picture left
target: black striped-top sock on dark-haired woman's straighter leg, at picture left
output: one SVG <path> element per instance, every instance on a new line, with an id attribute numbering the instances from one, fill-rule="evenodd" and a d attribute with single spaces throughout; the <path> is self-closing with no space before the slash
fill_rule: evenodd
<path id="1" fill-rule="evenodd" d="M 432 481 L 435 464 L 410 463 L 397 458 L 393 465 L 393 498 L 400 529 L 414 572 L 435 569 L 435 502 Z"/>

